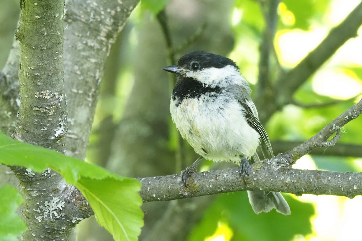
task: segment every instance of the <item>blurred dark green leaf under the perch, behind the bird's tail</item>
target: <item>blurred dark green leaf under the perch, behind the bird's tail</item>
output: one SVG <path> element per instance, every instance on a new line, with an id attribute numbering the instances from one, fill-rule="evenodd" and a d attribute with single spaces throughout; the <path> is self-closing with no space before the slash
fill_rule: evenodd
<path id="1" fill-rule="evenodd" d="M 291 216 L 281 215 L 275 210 L 256 215 L 246 192 L 220 194 L 193 228 L 188 240 L 198 241 L 211 236 L 218 222 L 226 223 L 232 229 L 232 240 L 284 241 L 292 240 L 297 234 L 311 233 L 313 206 L 290 197 L 286 197 L 286 201 L 293 210 Z"/>

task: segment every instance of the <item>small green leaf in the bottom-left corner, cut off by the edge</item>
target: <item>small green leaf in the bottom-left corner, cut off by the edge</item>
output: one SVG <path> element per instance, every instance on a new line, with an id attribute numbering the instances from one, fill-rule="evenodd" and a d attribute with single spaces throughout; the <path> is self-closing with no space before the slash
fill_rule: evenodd
<path id="1" fill-rule="evenodd" d="M 0 240 L 18 241 L 18 236 L 26 230 L 25 223 L 16 214 L 23 201 L 13 186 L 0 187 Z"/>

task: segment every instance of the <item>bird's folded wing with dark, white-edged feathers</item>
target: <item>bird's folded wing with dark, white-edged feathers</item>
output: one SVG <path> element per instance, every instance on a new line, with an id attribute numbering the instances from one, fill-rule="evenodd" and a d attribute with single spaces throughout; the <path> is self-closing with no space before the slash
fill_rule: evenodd
<path id="1" fill-rule="evenodd" d="M 264 157 L 265 158 L 273 157 L 274 154 L 273 150 L 271 149 L 271 144 L 268 134 L 266 134 L 264 127 L 261 125 L 258 119 L 258 112 L 256 110 L 254 103 L 252 102 L 252 100 L 249 100 L 247 98 L 239 99 L 239 103 L 245 109 L 245 118 L 247 119 L 248 124 L 260 134 L 261 145 L 262 147 L 265 146 L 264 149 L 267 149 L 270 154 L 270 156 L 269 155 L 266 156 L 262 148 Z"/>

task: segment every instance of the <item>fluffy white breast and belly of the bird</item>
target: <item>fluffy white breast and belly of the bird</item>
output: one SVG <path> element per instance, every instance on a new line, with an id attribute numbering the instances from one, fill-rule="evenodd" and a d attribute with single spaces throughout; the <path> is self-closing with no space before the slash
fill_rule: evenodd
<path id="1" fill-rule="evenodd" d="M 260 143 L 260 135 L 251 128 L 237 100 L 219 95 L 171 99 L 172 120 L 199 155 L 218 161 L 239 162 L 250 158 Z"/>

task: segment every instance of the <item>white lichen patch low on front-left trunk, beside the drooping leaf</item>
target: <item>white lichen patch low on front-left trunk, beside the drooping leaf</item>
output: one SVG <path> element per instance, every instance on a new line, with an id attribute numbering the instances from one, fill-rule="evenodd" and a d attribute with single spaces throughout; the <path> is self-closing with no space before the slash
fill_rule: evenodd
<path id="1" fill-rule="evenodd" d="M 50 220 L 60 218 L 64 215 L 60 213 L 60 210 L 62 210 L 64 206 L 65 202 L 61 201 L 58 197 L 54 197 L 50 201 L 45 201 L 44 206 L 41 205 L 35 210 L 40 214 L 39 216 L 35 216 L 35 219 L 41 222 L 43 218 L 49 218 Z"/>

